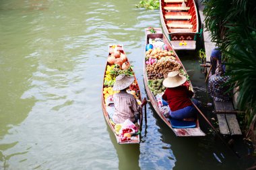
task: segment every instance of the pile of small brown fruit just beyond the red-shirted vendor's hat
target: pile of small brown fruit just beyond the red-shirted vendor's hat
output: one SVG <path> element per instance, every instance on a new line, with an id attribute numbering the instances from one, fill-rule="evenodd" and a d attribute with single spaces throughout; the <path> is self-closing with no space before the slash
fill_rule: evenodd
<path id="1" fill-rule="evenodd" d="M 171 71 L 180 71 L 182 66 L 177 60 L 160 60 L 153 65 L 147 65 L 147 75 L 150 80 L 165 79 Z"/>

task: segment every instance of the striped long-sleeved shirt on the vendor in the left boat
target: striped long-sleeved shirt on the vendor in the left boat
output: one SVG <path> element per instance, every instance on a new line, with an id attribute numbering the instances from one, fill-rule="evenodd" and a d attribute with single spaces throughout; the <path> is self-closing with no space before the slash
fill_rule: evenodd
<path id="1" fill-rule="evenodd" d="M 135 114 L 141 113 L 141 106 L 137 104 L 135 97 L 125 91 L 113 95 L 115 113 L 113 120 L 116 124 L 122 124 L 129 119 L 135 121 Z"/>

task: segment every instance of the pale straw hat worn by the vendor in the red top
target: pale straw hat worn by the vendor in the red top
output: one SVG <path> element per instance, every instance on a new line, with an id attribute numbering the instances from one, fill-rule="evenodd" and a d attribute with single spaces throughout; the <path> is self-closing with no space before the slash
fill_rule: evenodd
<path id="1" fill-rule="evenodd" d="M 179 71 L 172 71 L 168 73 L 168 77 L 164 79 L 162 84 L 164 87 L 178 87 L 185 83 L 187 81 L 187 78 L 183 75 L 179 75 Z"/>

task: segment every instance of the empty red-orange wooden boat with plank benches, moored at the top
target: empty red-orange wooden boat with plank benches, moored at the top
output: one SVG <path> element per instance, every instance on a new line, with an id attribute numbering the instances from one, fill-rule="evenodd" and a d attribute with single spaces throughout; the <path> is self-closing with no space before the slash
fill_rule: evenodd
<path id="1" fill-rule="evenodd" d="M 199 19 L 194 0 L 160 0 L 160 20 L 174 50 L 195 50 Z"/>

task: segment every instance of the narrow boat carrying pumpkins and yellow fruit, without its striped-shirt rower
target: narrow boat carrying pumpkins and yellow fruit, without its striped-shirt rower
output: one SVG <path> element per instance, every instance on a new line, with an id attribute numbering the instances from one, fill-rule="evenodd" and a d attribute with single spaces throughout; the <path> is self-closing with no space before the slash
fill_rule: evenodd
<path id="1" fill-rule="evenodd" d="M 114 54 L 115 52 L 119 53 L 117 54 L 116 58 Z M 123 124 L 115 124 L 115 122 L 113 122 L 113 120 L 111 120 L 109 116 L 110 113 L 113 113 L 115 111 L 113 95 L 115 93 L 118 93 L 118 91 L 113 91 L 113 85 L 115 83 L 115 77 L 120 74 L 134 76 L 134 82 L 129 86 L 129 89 L 127 89 L 127 93 L 133 94 L 137 100 L 137 103 L 141 104 L 141 93 L 139 90 L 139 85 L 134 75 L 132 66 L 130 65 L 129 60 L 126 57 L 125 51 L 123 50 L 123 44 L 110 44 L 108 45 L 108 60 L 106 62 L 104 81 L 102 85 L 103 115 L 113 134 L 115 134 L 115 137 L 117 138 L 117 142 L 119 144 L 136 144 L 140 142 L 139 135 L 143 119 L 142 110 L 139 114 L 137 123 L 134 124 L 135 126 L 131 127 L 133 129 L 125 129 L 125 132 L 127 132 L 128 135 L 125 135 L 124 131 L 122 131 L 123 133 L 121 132 L 121 130 L 123 129 Z"/>

